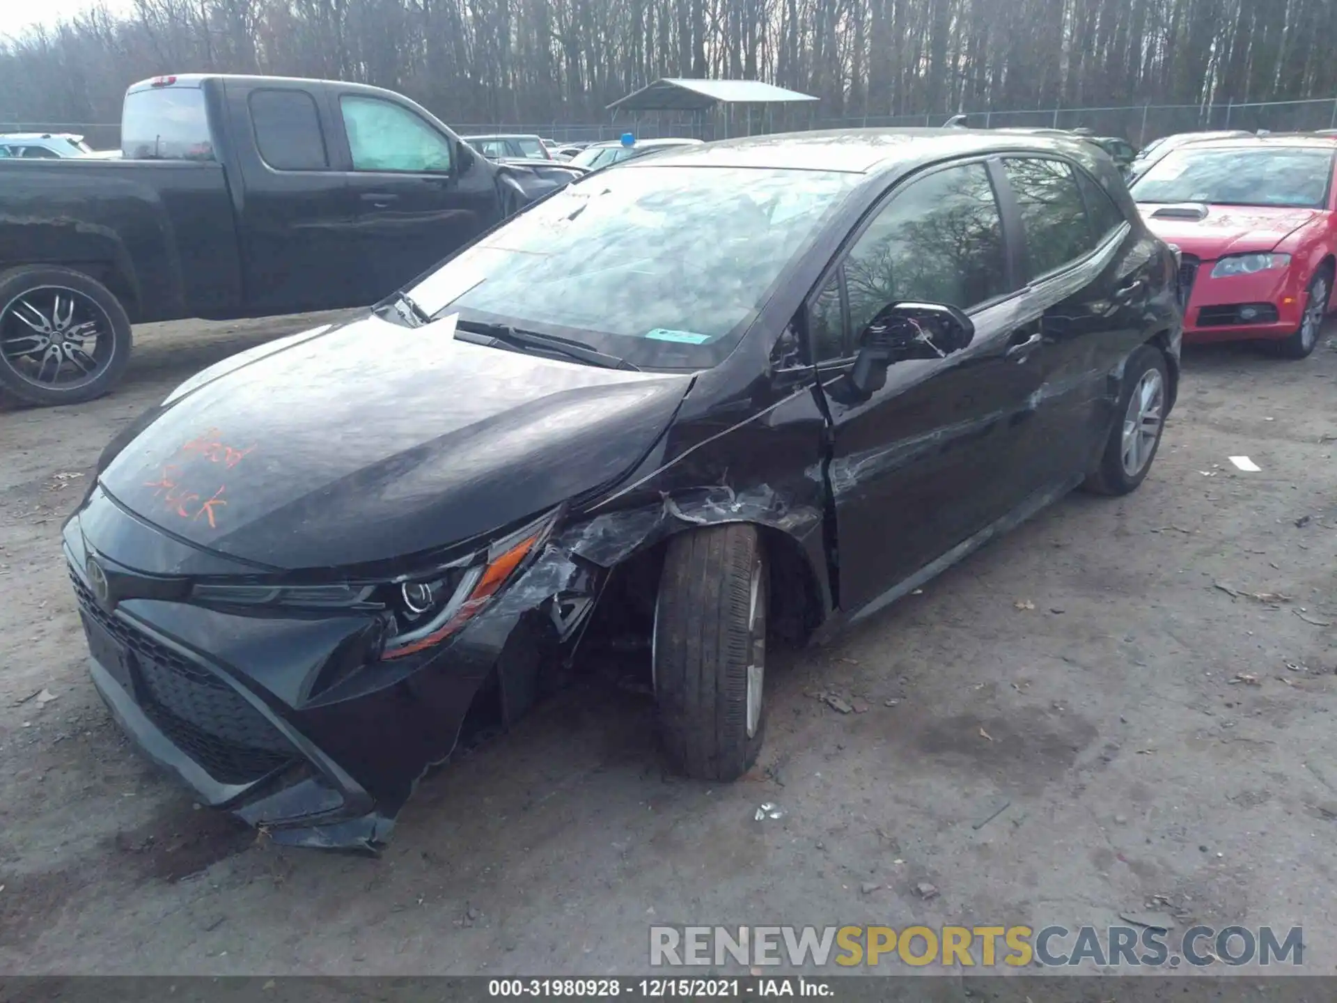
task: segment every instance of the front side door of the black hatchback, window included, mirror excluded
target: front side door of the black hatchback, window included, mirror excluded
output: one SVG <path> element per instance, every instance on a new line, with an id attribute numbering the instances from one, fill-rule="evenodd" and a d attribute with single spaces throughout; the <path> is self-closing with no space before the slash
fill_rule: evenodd
<path id="1" fill-rule="evenodd" d="M 996 166 L 957 162 L 896 186 L 852 234 L 809 313 L 834 445 L 840 606 L 870 612 L 916 572 L 1042 487 L 1034 457 L 1039 317 L 1020 313 Z M 975 324 L 963 350 L 893 362 L 868 400 L 848 393 L 860 334 L 890 302 L 949 304 Z"/>

